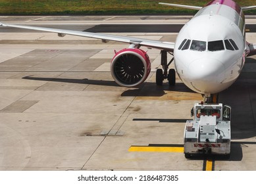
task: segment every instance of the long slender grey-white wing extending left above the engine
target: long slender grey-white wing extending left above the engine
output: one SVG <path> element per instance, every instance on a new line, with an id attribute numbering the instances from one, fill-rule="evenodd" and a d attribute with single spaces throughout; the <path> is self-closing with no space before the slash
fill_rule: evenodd
<path id="1" fill-rule="evenodd" d="M 141 39 L 136 37 L 126 37 L 120 35 L 109 35 L 109 34 L 98 34 L 98 33 L 91 33 L 91 32 L 79 32 L 79 31 L 72 31 L 72 30 L 61 30 L 61 29 L 54 29 L 54 28 L 42 28 L 36 26 L 22 26 L 22 25 L 14 25 L 14 24 L 3 24 L 0 22 L 0 26 L 12 27 L 12 28 L 22 28 L 28 30 L 38 30 L 43 32 L 54 32 L 57 33 L 60 37 L 64 37 L 64 35 L 77 35 L 82 37 L 91 37 L 95 39 L 101 39 L 104 43 L 107 41 L 118 41 L 122 43 L 129 43 L 136 45 L 136 47 L 145 46 L 149 48 L 155 48 L 165 51 L 170 51 L 173 53 L 174 51 L 174 44 L 173 42 L 166 42 L 166 41 L 154 41 L 151 39 Z"/>

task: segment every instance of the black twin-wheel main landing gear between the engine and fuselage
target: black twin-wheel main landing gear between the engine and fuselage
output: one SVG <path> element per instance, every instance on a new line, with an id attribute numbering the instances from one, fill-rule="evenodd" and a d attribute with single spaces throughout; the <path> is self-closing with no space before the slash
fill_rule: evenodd
<path id="1" fill-rule="evenodd" d="M 172 53 L 169 53 L 172 55 Z M 173 55 L 172 55 L 173 56 Z M 170 60 L 170 62 L 167 63 L 167 52 L 161 51 L 161 65 L 163 66 L 162 69 L 157 69 L 156 74 L 156 83 L 157 85 L 163 85 L 163 80 L 167 79 L 169 85 L 175 85 L 176 84 L 176 72 L 174 69 L 170 69 L 168 71 L 168 66 L 172 63 L 174 60 L 174 57 Z"/>

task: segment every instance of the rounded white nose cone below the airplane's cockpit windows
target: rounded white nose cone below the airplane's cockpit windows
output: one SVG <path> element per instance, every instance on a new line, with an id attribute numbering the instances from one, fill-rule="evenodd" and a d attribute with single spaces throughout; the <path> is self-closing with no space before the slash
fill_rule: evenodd
<path id="1" fill-rule="evenodd" d="M 224 65 L 213 58 L 194 60 L 188 66 L 188 76 L 193 91 L 198 93 L 218 93 L 225 78 Z"/>

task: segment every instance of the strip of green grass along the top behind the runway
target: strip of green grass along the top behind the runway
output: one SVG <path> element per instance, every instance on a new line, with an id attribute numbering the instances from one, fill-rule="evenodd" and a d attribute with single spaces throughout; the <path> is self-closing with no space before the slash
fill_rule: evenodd
<path id="1" fill-rule="evenodd" d="M 197 11 L 159 5 L 159 2 L 203 6 L 209 1 L 185 0 L 0 0 L 0 14 L 195 14 Z M 255 0 L 237 1 L 240 5 L 256 5 Z M 256 14 L 256 11 L 247 11 Z"/>

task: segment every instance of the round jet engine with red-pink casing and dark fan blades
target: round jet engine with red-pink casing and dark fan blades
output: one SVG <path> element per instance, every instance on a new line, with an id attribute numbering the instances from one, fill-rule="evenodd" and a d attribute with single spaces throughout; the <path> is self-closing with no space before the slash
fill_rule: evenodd
<path id="1" fill-rule="evenodd" d="M 149 56 L 141 49 L 122 49 L 111 62 L 111 75 L 118 85 L 135 87 L 149 76 Z"/>

